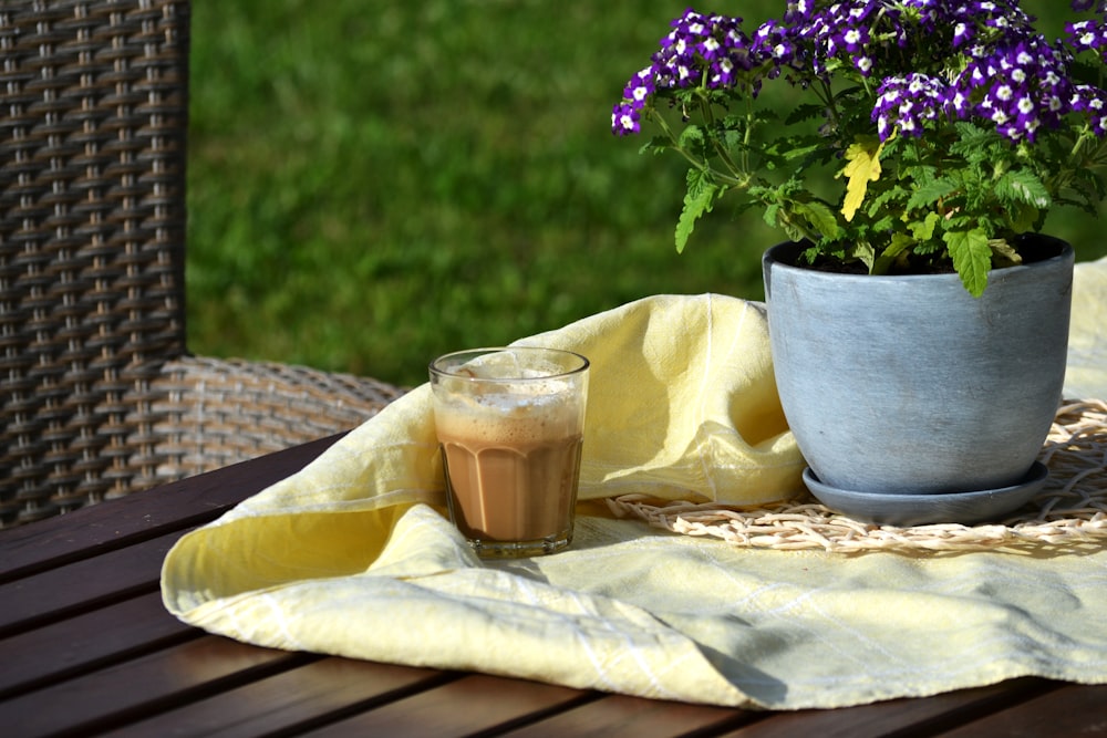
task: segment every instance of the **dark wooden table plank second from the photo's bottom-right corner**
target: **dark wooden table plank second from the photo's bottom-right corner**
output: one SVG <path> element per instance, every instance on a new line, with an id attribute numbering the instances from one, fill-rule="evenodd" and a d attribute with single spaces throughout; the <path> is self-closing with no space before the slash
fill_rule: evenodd
<path id="1" fill-rule="evenodd" d="M 960 689 L 922 699 L 891 699 L 835 710 L 798 710 L 764 719 L 725 734 L 726 738 L 877 738 L 925 728 L 931 734 L 989 715 L 1057 685 L 1045 679 L 1015 679 L 976 689 Z M 924 734 L 919 734 L 924 735 Z"/>

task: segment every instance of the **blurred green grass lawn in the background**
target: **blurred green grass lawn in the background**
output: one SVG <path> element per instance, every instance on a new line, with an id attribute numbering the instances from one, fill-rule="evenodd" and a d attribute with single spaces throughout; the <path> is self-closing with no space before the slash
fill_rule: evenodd
<path id="1" fill-rule="evenodd" d="M 677 254 L 683 167 L 610 134 L 685 6 L 194 0 L 192 350 L 416 384 L 648 294 L 759 299 L 778 233 L 720 211 Z M 1024 2 L 1058 31 L 1066 6 Z M 1047 229 L 1107 253 L 1094 218 Z"/>

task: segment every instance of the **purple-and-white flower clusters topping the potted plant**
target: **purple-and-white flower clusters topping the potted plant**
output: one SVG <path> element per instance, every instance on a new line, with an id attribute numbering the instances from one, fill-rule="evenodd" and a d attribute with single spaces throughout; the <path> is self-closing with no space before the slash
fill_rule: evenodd
<path id="1" fill-rule="evenodd" d="M 1073 7 L 1107 12 L 1107 0 L 1076 0 Z M 844 64 L 876 80 L 870 117 L 881 138 L 893 131 L 922 136 L 943 121 L 975 119 L 1012 142 L 1034 142 L 1072 113 L 1088 116 L 1097 133 L 1104 129 L 1107 97 L 1090 87 L 1076 94 L 1070 52 L 1049 44 L 1016 0 L 789 0 L 784 18 L 765 22 L 753 38 L 742 22 L 691 8 L 673 20 L 651 65 L 623 90 L 612 129 L 639 133 L 656 95 L 702 87 L 756 96 L 764 80 L 785 70 L 807 86 L 818 77 L 829 81 Z M 1107 19 L 1066 30 L 1075 53 L 1107 61 Z M 942 46 L 944 53 L 931 52 Z M 950 64 L 951 53 L 960 54 L 960 63 Z"/>

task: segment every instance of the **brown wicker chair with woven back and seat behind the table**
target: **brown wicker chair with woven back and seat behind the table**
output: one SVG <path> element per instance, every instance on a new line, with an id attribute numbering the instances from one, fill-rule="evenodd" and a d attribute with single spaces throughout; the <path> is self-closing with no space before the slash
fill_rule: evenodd
<path id="1" fill-rule="evenodd" d="M 0 3 L 0 527 L 351 428 L 402 391 L 185 343 L 187 0 Z"/>

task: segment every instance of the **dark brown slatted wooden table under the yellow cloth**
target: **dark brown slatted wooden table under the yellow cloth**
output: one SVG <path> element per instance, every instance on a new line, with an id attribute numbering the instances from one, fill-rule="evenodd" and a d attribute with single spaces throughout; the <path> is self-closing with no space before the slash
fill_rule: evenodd
<path id="1" fill-rule="evenodd" d="M 0 531 L 0 736 L 1107 736 L 1107 686 L 757 713 L 271 651 L 170 616 L 173 542 L 334 440 Z"/>

